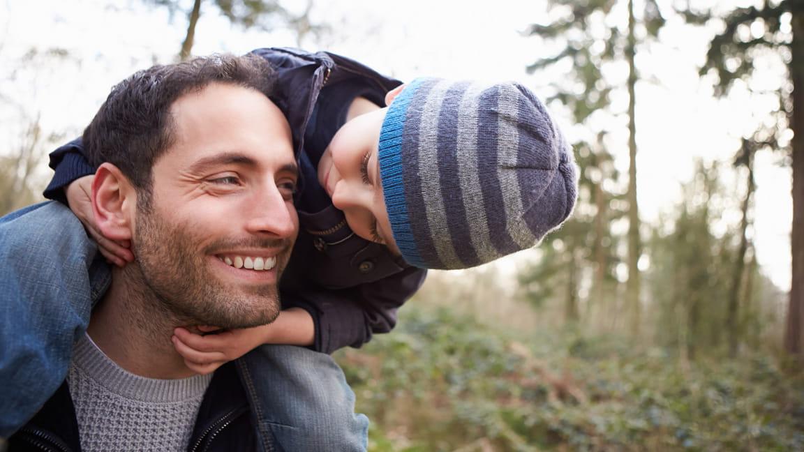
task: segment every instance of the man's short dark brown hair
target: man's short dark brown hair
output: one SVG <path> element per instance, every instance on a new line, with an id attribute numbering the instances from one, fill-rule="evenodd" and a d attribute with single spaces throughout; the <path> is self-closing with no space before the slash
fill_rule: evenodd
<path id="1" fill-rule="evenodd" d="M 256 55 L 212 55 L 178 64 L 157 65 L 135 73 L 112 88 L 92 122 L 84 129 L 89 162 L 120 168 L 150 205 L 154 162 L 173 145 L 170 106 L 179 97 L 212 83 L 235 84 L 270 96 L 276 77 Z"/>

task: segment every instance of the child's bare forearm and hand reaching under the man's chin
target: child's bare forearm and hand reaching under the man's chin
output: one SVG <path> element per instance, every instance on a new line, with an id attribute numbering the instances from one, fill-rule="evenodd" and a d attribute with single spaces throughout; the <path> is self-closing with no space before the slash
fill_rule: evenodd
<path id="1" fill-rule="evenodd" d="M 198 329 L 210 334 L 176 328 L 172 339 L 187 368 L 204 375 L 264 343 L 310 346 L 315 335 L 313 318 L 300 308 L 282 310 L 273 323 L 260 327 L 220 332 L 215 332 L 218 327 Z"/>

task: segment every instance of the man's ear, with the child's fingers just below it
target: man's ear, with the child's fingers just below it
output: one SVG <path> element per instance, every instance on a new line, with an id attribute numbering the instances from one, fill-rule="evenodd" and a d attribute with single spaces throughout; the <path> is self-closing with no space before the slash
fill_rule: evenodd
<path id="1" fill-rule="evenodd" d="M 117 166 L 103 163 L 92 181 L 92 213 L 97 228 L 109 240 L 131 240 L 137 195 Z"/>

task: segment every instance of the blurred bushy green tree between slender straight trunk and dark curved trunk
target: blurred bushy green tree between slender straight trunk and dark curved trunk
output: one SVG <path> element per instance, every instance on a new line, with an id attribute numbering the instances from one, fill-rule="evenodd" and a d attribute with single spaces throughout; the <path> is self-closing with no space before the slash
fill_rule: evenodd
<path id="1" fill-rule="evenodd" d="M 695 359 L 722 343 L 724 294 L 731 283 L 736 233 L 712 232 L 724 197 L 718 166 L 698 162 L 695 177 L 683 187 L 675 212 L 654 228 L 646 290 L 654 301 L 658 343 L 679 347 Z M 668 329 L 673 326 L 673 329 Z"/>

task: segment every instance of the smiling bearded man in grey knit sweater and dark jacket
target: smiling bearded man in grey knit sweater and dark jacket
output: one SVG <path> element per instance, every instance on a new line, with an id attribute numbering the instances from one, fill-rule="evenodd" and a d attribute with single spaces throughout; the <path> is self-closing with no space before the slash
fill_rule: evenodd
<path id="1" fill-rule="evenodd" d="M 68 379 L 10 450 L 273 450 L 240 363 L 195 375 L 171 343 L 178 326 L 253 327 L 280 310 L 297 165 L 269 73 L 256 57 L 214 57 L 113 89 L 84 133 L 100 165 L 92 208 L 137 261 L 113 269 Z M 21 215 L 52 209 L 64 207 Z M 224 262 L 236 258 L 252 269 Z"/>

